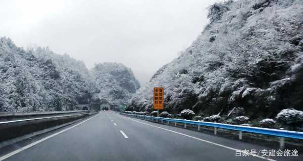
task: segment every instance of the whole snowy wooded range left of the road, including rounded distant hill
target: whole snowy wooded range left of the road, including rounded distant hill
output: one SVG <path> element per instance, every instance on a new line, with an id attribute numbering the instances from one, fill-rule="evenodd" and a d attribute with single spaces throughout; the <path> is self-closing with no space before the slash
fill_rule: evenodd
<path id="1" fill-rule="evenodd" d="M 106 80 L 106 81 L 103 81 Z M 122 64 L 92 69 L 47 47 L 17 47 L 0 38 L 0 112 L 78 110 L 78 104 L 126 104 L 139 88 Z"/>

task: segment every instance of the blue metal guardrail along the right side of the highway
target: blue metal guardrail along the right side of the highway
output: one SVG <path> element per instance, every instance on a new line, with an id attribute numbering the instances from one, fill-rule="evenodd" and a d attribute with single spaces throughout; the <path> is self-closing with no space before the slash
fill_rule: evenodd
<path id="1" fill-rule="evenodd" d="M 183 124 L 185 124 L 185 127 L 186 127 L 186 124 L 214 127 L 215 134 L 217 133 L 216 128 L 236 130 L 236 131 L 241 132 L 239 134 L 239 139 L 242 139 L 242 131 L 250 132 L 250 133 L 257 133 L 257 134 L 264 134 L 264 135 L 272 135 L 272 136 L 278 136 L 278 137 L 287 137 L 287 138 L 293 138 L 293 139 L 303 139 L 303 132 L 298 132 L 298 131 L 278 130 L 278 129 L 259 128 L 259 127 L 246 127 L 246 126 L 240 126 L 240 125 L 230 125 L 230 124 L 182 120 L 182 119 L 169 119 L 169 118 L 142 116 L 142 115 L 125 114 L 125 113 L 120 113 L 120 114 L 125 115 L 125 116 L 141 118 L 141 119 L 153 119 L 153 120 L 156 119 L 157 121 L 163 120 L 163 121 L 168 121 L 168 122 L 183 123 Z"/>

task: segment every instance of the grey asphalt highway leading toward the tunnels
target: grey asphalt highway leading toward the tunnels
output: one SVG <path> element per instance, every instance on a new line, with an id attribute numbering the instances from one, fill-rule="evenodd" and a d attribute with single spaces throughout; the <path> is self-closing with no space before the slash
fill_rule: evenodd
<path id="1" fill-rule="evenodd" d="M 103 111 L 4 147 L 0 160 L 302 160 L 236 156 L 236 149 L 271 148 Z"/>

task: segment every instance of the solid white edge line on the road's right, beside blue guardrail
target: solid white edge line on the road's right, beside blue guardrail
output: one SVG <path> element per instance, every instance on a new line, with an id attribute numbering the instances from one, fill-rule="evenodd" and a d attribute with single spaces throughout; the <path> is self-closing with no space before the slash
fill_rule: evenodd
<path id="1" fill-rule="evenodd" d="M 131 120 L 135 121 L 135 122 L 138 122 L 138 123 L 141 123 L 141 124 L 145 124 L 145 125 L 151 126 L 151 127 L 159 128 L 159 129 L 170 131 L 170 132 L 173 132 L 173 133 L 176 133 L 176 134 L 179 134 L 179 135 L 190 137 L 190 138 L 193 138 L 193 139 L 196 139 L 196 140 L 199 140 L 199 141 L 203 141 L 203 142 L 207 142 L 207 143 L 210 143 L 210 144 L 213 144 L 213 145 L 221 146 L 221 147 L 224 147 L 224 148 L 227 148 L 227 149 L 230 149 L 230 150 L 234 150 L 234 151 L 238 150 L 238 149 L 235 149 L 235 148 L 232 148 L 232 147 L 229 147 L 229 146 L 221 145 L 221 144 L 218 144 L 218 143 L 214 143 L 214 142 L 211 142 L 211 141 L 207 141 L 207 140 L 204 140 L 204 139 L 200 139 L 200 138 L 196 138 L 196 137 L 193 137 L 193 136 L 190 136 L 190 135 L 179 133 L 177 131 L 165 129 L 165 128 L 162 128 L 162 127 L 159 127 L 159 126 L 155 126 L 155 125 L 146 124 L 146 123 L 143 123 L 143 122 L 140 122 L 140 121 L 137 121 L 137 120 L 133 120 L 133 119 L 131 119 Z M 263 157 L 263 156 L 254 155 L 254 154 L 249 153 L 249 152 L 247 152 L 247 154 L 250 155 L 250 156 L 259 157 L 259 158 L 262 158 L 262 159 L 265 159 L 265 160 L 277 161 L 277 160 L 274 160 L 274 159 L 271 159 L 271 158 L 266 158 L 266 157 Z"/>

